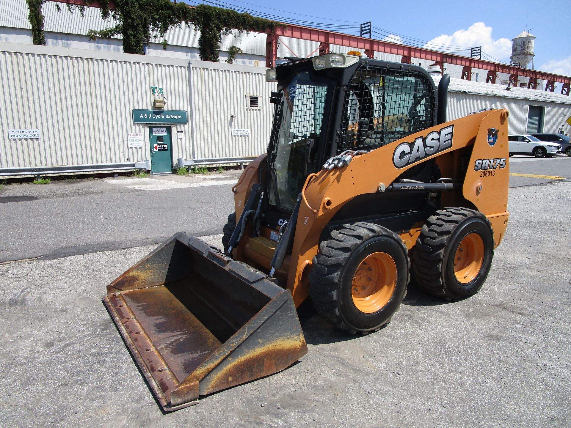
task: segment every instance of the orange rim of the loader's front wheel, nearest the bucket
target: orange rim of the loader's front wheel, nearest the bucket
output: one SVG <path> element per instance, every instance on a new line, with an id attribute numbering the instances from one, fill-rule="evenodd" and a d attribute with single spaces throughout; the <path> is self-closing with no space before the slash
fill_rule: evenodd
<path id="1" fill-rule="evenodd" d="M 391 300 L 396 277 L 395 261 L 387 253 L 377 252 L 365 257 L 353 277 L 353 304 L 361 312 L 377 312 Z"/>

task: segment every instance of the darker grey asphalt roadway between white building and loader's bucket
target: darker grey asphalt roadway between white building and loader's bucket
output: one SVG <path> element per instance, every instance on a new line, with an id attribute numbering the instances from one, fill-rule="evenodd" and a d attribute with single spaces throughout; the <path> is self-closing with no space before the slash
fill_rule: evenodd
<path id="1" fill-rule="evenodd" d="M 6 185 L 0 263 L 158 244 L 179 231 L 220 233 L 239 173 Z"/>

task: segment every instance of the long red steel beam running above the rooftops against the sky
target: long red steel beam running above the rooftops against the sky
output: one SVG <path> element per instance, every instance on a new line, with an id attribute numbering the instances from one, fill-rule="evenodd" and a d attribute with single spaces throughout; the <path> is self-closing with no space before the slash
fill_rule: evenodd
<path id="1" fill-rule="evenodd" d="M 69 3 L 70 5 L 87 6 L 85 0 L 49 0 Z M 97 1 L 90 3 L 91 7 L 101 7 Z M 194 7 L 194 6 L 189 6 Z M 109 9 L 115 9 L 113 0 L 109 1 Z M 286 24 L 284 27 L 276 27 L 274 31 L 266 30 L 267 34 L 275 34 L 283 37 L 291 37 L 295 39 L 309 40 L 312 42 L 329 43 L 330 45 L 340 45 L 352 47 L 353 49 L 362 49 L 368 51 L 377 51 L 385 54 L 395 54 L 401 56 L 409 56 L 411 58 L 426 59 L 432 62 L 440 62 L 445 64 L 455 64 L 463 67 L 480 68 L 482 70 L 495 71 L 496 73 L 505 73 L 508 75 L 516 74 L 518 77 L 529 77 L 533 79 L 551 80 L 552 82 L 563 83 L 563 88 L 569 88 L 571 77 L 560 76 L 557 74 L 546 73 L 543 71 L 529 70 L 528 68 L 520 68 L 499 64 L 495 62 L 485 61 L 482 59 L 468 58 L 467 56 L 444 54 L 422 47 L 414 47 L 407 45 L 399 45 L 398 43 L 384 42 L 366 37 L 359 37 L 351 34 L 335 33 L 334 31 L 320 30 L 300 25 Z M 325 46 L 325 45 L 323 45 Z M 272 52 L 272 54 L 274 54 Z M 270 58 L 270 63 L 273 58 Z M 266 60 L 268 63 L 268 60 Z M 564 91 L 562 90 L 562 93 Z"/>

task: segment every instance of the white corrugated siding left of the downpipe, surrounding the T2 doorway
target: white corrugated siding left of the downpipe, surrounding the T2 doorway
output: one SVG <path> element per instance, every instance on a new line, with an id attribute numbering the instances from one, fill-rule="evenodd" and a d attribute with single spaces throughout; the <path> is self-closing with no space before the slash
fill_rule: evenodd
<path id="1" fill-rule="evenodd" d="M 131 110 L 151 108 L 150 86 L 165 88 L 169 110 L 190 110 L 188 65 L 140 62 L 128 54 L 107 54 L 124 60 L 55 55 L 47 54 L 54 48 L 36 46 L 29 49 L 46 54 L 13 52 L 5 46 L 0 44 L 1 167 L 145 160 L 148 131 L 132 123 Z M 10 129 L 39 129 L 42 138 L 9 140 Z M 191 146 L 188 125 L 176 130 L 187 132 L 184 140 L 173 141 L 175 159 L 188 156 Z M 143 132 L 146 143 L 128 148 L 127 132 Z"/>

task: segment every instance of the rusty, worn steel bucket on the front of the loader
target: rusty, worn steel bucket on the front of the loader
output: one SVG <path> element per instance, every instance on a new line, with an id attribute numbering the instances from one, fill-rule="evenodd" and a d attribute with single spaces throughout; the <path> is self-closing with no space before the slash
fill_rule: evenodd
<path id="1" fill-rule="evenodd" d="M 186 233 L 111 282 L 103 301 L 166 411 L 307 353 L 287 290 Z"/>

